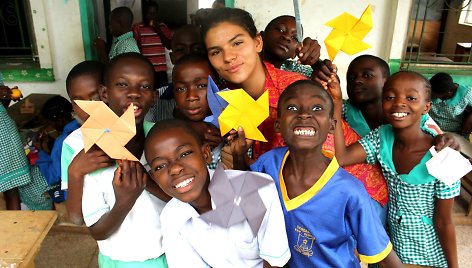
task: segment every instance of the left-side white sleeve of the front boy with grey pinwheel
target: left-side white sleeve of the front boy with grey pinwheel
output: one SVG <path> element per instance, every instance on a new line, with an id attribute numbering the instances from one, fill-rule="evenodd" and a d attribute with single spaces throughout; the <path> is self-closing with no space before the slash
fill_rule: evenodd
<path id="1" fill-rule="evenodd" d="M 210 267 L 203 261 L 200 255 L 186 241 L 172 222 L 172 211 L 170 207 L 165 207 L 161 214 L 162 244 L 166 254 L 167 264 L 173 267 Z"/>

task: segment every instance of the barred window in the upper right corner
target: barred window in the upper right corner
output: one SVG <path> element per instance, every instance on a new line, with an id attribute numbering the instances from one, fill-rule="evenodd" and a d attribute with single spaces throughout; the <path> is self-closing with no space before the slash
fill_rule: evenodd
<path id="1" fill-rule="evenodd" d="M 414 0 L 402 69 L 472 67 L 472 0 Z"/>

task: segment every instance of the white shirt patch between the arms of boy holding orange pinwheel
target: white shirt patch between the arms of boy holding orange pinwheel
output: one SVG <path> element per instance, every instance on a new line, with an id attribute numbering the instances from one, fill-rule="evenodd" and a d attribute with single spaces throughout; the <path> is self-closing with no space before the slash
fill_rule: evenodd
<path id="1" fill-rule="evenodd" d="M 84 216 L 85 224 L 90 227 L 94 225 L 103 214 L 110 211 L 110 206 L 106 203 L 104 198 L 104 189 L 98 183 L 98 180 L 105 179 L 101 174 L 106 172 L 85 175 L 84 189 L 82 193 L 82 215 Z M 110 182 L 111 183 L 111 182 Z"/>

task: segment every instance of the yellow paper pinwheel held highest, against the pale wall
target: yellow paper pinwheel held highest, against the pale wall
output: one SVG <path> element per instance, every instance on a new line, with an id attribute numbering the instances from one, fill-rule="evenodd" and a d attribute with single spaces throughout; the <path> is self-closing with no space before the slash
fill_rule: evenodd
<path id="1" fill-rule="evenodd" d="M 359 19 L 344 12 L 325 25 L 333 28 L 325 39 L 331 61 L 340 50 L 353 55 L 370 48 L 370 45 L 362 41 L 372 29 L 372 8 L 370 5 L 367 6 Z"/>

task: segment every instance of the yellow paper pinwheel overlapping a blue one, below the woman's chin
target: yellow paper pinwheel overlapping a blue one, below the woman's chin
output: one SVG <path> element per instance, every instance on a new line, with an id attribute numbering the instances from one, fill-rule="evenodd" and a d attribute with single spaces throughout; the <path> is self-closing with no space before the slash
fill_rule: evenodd
<path id="1" fill-rule="evenodd" d="M 258 141 L 267 141 L 257 128 L 269 117 L 269 94 L 267 90 L 254 100 L 243 89 L 234 89 L 218 92 L 228 102 L 228 106 L 218 117 L 221 135 L 238 127 L 244 129 L 246 138 Z"/>

